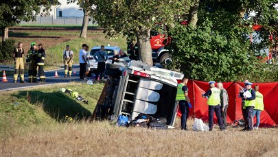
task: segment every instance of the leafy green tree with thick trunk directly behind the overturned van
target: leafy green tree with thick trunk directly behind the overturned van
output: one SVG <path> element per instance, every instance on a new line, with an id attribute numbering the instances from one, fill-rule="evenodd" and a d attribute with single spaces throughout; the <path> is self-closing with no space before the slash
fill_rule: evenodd
<path id="1" fill-rule="evenodd" d="M 189 0 L 96 0 L 93 17 L 108 36 L 136 36 L 139 57 L 152 64 L 150 30 L 157 23 L 171 25 L 189 10 Z M 89 2 L 91 3 L 91 2 Z"/>

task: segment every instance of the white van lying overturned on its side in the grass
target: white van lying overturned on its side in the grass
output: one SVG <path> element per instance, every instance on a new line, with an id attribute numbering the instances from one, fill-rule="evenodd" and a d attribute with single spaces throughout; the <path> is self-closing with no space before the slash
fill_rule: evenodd
<path id="1" fill-rule="evenodd" d="M 183 78 L 182 73 L 132 60 L 128 65 L 106 64 L 105 74 L 109 78 L 93 119 L 113 119 L 123 114 L 134 120 L 139 114 L 148 114 L 174 125 L 177 80 Z"/>

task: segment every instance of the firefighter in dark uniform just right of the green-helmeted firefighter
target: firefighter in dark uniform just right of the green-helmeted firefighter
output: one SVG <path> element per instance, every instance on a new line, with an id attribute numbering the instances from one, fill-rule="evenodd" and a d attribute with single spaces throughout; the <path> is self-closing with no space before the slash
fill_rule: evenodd
<path id="1" fill-rule="evenodd" d="M 43 44 L 38 44 L 38 58 L 37 58 L 37 64 L 38 64 L 38 76 L 40 77 L 40 83 L 45 83 L 45 71 L 43 70 L 43 67 L 45 66 L 45 49 L 43 49 Z"/>

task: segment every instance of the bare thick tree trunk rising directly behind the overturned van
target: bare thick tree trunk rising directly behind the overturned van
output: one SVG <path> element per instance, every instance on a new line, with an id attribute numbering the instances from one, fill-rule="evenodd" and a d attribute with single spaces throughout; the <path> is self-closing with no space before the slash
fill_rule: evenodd
<path id="1" fill-rule="evenodd" d="M 142 27 L 136 32 L 139 58 L 143 63 L 152 65 L 152 47 L 150 46 L 150 29 Z"/>

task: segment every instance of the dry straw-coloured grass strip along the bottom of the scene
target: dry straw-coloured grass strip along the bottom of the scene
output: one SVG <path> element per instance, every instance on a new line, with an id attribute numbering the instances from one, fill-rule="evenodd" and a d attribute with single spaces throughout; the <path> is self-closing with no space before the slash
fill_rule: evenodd
<path id="1" fill-rule="evenodd" d="M 1 138 L 1 156 L 277 156 L 277 129 L 193 132 L 104 122 L 31 125 Z"/>

